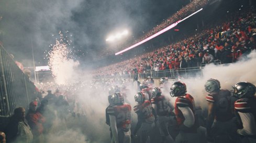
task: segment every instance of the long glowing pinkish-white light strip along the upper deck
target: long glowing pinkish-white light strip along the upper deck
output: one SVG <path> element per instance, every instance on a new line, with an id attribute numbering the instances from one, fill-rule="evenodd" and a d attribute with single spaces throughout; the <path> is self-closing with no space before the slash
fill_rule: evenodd
<path id="1" fill-rule="evenodd" d="M 166 32 L 166 31 L 168 31 L 168 30 L 170 30 L 170 29 L 176 27 L 177 24 L 179 24 L 180 22 L 186 20 L 187 18 L 189 18 L 189 17 L 195 15 L 197 12 L 199 12 L 199 11 L 201 11 L 201 10 L 203 10 L 203 8 L 201 8 L 201 9 L 195 11 L 193 14 L 191 14 L 191 15 L 185 17 L 185 18 L 182 19 L 182 20 L 179 20 L 179 21 L 177 21 L 177 22 L 175 22 L 175 23 L 172 23 L 169 27 L 166 27 L 165 29 L 163 29 L 163 30 L 161 30 L 161 31 L 159 31 L 159 32 L 157 32 L 157 33 L 155 33 L 155 34 L 149 36 L 148 38 L 146 38 L 146 39 L 144 39 L 144 40 L 142 40 L 142 41 L 140 41 L 140 42 L 138 42 L 138 43 L 136 43 L 136 44 L 134 44 L 134 45 L 132 45 L 132 46 L 126 48 L 126 49 L 123 49 L 123 50 L 121 50 L 121 51 L 118 51 L 117 53 L 115 53 L 115 55 L 119 55 L 119 54 L 121 54 L 121 53 L 124 53 L 125 51 L 127 51 L 127 50 L 129 50 L 129 49 L 132 49 L 132 48 L 134 48 L 134 47 L 137 47 L 137 46 L 139 46 L 139 45 L 141 45 L 141 44 L 143 44 L 143 43 L 145 43 L 145 42 L 151 40 L 152 38 L 154 38 L 154 37 L 156 37 L 156 36 L 158 36 L 158 35 L 160 35 L 160 34 Z"/>

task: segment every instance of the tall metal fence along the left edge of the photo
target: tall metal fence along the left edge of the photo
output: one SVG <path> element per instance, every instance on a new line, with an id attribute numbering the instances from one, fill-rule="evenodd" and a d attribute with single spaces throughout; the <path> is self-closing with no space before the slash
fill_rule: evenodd
<path id="1" fill-rule="evenodd" d="M 17 107 L 28 107 L 36 98 L 36 87 L 0 45 L 0 116 L 9 116 Z"/>

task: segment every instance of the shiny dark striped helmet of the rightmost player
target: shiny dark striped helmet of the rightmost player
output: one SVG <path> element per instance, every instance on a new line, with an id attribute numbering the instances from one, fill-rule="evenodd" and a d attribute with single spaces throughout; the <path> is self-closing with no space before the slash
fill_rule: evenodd
<path id="1" fill-rule="evenodd" d="M 255 85 L 249 82 L 239 82 L 233 86 L 233 96 L 237 98 L 253 97 L 256 89 Z"/>

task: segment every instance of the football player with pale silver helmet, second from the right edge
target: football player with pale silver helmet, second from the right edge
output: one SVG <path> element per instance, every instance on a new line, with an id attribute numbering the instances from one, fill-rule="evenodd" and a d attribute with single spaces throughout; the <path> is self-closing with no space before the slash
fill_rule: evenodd
<path id="1" fill-rule="evenodd" d="M 236 135 L 233 130 L 235 122 L 232 122 L 231 93 L 227 89 L 220 89 L 220 82 L 209 79 L 205 83 L 205 90 L 209 94 L 208 117 L 206 123 L 207 139 L 210 142 L 235 142 Z"/>

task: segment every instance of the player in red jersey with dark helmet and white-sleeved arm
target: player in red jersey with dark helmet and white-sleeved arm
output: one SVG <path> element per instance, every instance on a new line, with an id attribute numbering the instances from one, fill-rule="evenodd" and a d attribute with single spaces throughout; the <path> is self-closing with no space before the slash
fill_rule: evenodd
<path id="1" fill-rule="evenodd" d="M 180 131 L 175 141 L 187 143 L 206 142 L 206 129 L 199 126 L 195 114 L 194 98 L 186 93 L 186 84 L 180 81 L 174 82 L 170 90 L 170 95 L 177 97 L 174 111 Z"/>

